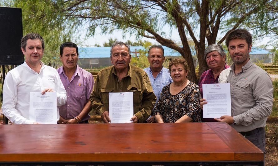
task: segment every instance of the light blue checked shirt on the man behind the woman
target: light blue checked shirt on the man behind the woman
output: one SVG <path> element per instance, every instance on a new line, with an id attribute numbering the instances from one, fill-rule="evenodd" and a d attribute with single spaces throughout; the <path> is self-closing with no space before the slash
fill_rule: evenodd
<path id="1" fill-rule="evenodd" d="M 162 88 L 165 85 L 168 85 L 169 83 L 173 82 L 169 70 L 167 68 L 162 68 L 159 74 L 157 74 L 156 78 L 153 77 L 151 68 L 145 68 L 144 71 L 148 74 L 150 82 L 151 82 L 151 87 L 154 91 L 154 94 L 156 95 L 156 103 L 158 102 L 160 93 L 162 91 Z"/>

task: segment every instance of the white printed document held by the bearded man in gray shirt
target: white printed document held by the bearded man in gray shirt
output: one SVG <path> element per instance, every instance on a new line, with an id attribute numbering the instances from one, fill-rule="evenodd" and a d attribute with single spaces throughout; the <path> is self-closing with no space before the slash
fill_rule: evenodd
<path id="1" fill-rule="evenodd" d="M 203 97 L 207 101 L 203 105 L 203 118 L 231 116 L 230 83 L 203 84 Z"/>

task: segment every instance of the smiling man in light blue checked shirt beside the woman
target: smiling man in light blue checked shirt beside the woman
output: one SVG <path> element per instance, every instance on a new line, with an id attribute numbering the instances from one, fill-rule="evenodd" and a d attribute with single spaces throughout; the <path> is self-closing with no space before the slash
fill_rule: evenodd
<path id="1" fill-rule="evenodd" d="M 161 45 L 152 45 L 148 51 L 148 60 L 150 67 L 145 68 L 144 71 L 148 74 L 152 89 L 156 95 L 156 103 L 159 99 L 162 88 L 173 82 L 169 70 L 163 67 L 163 62 L 165 61 L 164 49 Z M 151 113 L 150 118 L 146 120 L 148 123 L 155 122 L 153 115 Z"/>

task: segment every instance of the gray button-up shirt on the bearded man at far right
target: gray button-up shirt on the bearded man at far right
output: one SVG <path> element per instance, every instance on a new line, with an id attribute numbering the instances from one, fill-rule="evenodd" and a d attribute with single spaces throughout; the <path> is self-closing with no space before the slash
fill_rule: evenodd
<path id="1" fill-rule="evenodd" d="M 231 116 L 238 132 L 266 126 L 273 106 L 273 85 L 270 76 L 251 59 L 235 75 L 235 64 L 221 72 L 218 83 L 230 83 Z"/>

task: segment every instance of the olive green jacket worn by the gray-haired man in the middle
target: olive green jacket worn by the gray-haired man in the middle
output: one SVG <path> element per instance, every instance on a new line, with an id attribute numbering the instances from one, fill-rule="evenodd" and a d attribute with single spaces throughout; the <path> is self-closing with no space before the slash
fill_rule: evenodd
<path id="1" fill-rule="evenodd" d="M 114 66 L 102 69 L 96 78 L 90 101 L 92 108 L 102 115 L 109 111 L 109 92 L 133 92 L 133 111 L 138 122 L 144 122 L 151 114 L 156 102 L 151 83 L 146 72 L 138 67 L 129 65 L 126 77 L 119 81 Z"/>

